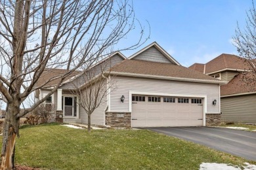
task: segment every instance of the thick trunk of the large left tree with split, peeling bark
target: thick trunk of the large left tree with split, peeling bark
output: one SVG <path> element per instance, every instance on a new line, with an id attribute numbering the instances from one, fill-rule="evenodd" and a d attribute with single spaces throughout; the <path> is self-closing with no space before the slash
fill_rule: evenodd
<path id="1" fill-rule="evenodd" d="M 3 125 L 3 145 L 1 152 L 1 169 L 3 170 L 14 169 L 14 146 L 20 125 L 20 119 L 16 118 L 16 114 L 19 112 L 19 105 L 9 104 Z"/>

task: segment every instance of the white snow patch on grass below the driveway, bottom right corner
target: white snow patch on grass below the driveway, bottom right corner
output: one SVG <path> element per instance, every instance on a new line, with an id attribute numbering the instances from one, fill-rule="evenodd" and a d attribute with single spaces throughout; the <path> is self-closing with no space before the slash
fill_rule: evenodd
<path id="1" fill-rule="evenodd" d="M 256 170 L 256 165 L 245 162 L 242 166 L 244 170 Z M 201 163 L 200 170 L 242 170 L 237 165 L 226 163 Z"/>

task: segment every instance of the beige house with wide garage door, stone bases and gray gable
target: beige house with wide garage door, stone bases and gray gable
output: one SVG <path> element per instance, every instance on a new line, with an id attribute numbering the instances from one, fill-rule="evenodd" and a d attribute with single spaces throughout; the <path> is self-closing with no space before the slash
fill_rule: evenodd
<path id="1" fill-rule="evenodd" d="M 182 67 L 156 42 L 127 59 L 120 52 L 108 59 L 111 72 L 106 87 L 112 79 L 116 84 L 91 115 L 91 124 L 150 127 L 220 123 L 219 87 L 224 82 Z M 91 68 L 100 67 L 102 62 Z M 66 80 L 53 94 L 56 119 L 87 124 L 87 113 L 74 102 L 79 96 L 70 92 L 82 77 Z M 41 96 L 45 90 L 49 89 L 40 90 Z M 121 97 L 125 97 L 123 101 Z"/>

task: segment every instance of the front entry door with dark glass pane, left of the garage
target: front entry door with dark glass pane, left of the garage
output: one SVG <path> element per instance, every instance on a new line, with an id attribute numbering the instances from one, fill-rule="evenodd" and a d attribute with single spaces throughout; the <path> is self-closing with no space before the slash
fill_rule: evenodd
<path id="1" fill-rule="evenodd" d="M 77 112 L 76 100 L 77 100 L 77 97 L 64 97 L 64 116 L 76 117 L 76 112 Z"/>

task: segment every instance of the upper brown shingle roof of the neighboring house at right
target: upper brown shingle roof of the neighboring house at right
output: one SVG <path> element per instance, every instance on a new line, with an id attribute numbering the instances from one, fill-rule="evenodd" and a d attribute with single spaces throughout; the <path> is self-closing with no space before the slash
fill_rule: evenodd
<path id="1" fill-rule="evenodd" d="M 249 69 L 249 65 L 244 58 L 232 54 L 221 54 L 205 64 L 205 74 L 222 69 Z"/>

